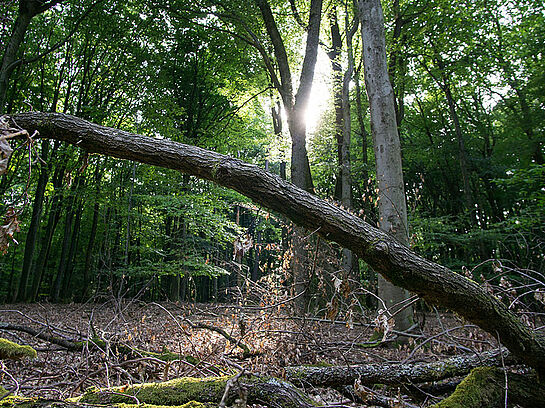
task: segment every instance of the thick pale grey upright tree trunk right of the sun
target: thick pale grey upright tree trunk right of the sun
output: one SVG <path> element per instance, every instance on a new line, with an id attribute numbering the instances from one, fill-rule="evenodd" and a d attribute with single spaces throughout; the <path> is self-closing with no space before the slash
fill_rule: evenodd
<path id="1" fill-rule="evenodd" d="M 399 242 L 408 245 L 401 145 L 397 131 L 394 93 L 386 64 L 382 7 L 380 0 L 360 0 L 358 9 L 379 189 L 379 226 L 383 231 L 395 236 Z M 397 330 L 407 330 L 412 325 L 412 308 L 399 310 L 400 302 L 408 298 L 407 291 L 379 276 L 378 295 L 389 313 L 394 315 Z"/>

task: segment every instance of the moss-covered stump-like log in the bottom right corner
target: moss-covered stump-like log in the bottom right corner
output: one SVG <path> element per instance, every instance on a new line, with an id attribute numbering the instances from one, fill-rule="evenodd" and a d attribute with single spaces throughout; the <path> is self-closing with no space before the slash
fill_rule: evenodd
<path id="1" fill-rule="evenodd" d="M 505 393 L 507 392 L 507 398 Z M 507 405 L 505 402 L 507 401 Z M 494 367 L 475 368 L 454 393 L 432 408 L 543 408 L 545 387 L 535 376 L 507 373 Z"/>

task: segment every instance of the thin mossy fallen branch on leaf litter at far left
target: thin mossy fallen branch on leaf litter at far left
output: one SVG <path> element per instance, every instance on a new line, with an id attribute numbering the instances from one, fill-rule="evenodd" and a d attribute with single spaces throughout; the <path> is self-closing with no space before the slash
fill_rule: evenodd
<path id="1" fill-rule="evenodd" d="M 154 357 L 162 361 L 183 360 L 191 364 L 199 363 L 199 360 L 192 356 L 183 356 L 177 353 L 172 353 L 168 350 L 162 351 L 160 353 L 141 350 L 141 349 L 130 347 L 121 343 L 107 343 L 106 341 L 102 340 L 99 337 L 81 340 L 81 341 L 73 341 L 73 340 L 68 340 L 68 339 L 63 339 L 61 337 L 53 336 L 43 330 L 38 331 L 36 329 L 33 329 L 32 327 L 21 326 L 21 325 L 11 324 L 11 323 L 4 323 L 4 322 L 0 322 L 0 329 L 27 333 L 38 339 L 47 341 L 57 346 L 61 346 L 69 351 L 81 351 L 85 347 L 88 347 L 89 349 L 101 349 L 101 350 L 106 350 L 107 348 L 109 348 L 110 350 L 113 350 L 114 352 L 118 354 L 123 354 L 130 357 Z M 1 344 L 0 344 L 0 347 L 1 347 Z"/>

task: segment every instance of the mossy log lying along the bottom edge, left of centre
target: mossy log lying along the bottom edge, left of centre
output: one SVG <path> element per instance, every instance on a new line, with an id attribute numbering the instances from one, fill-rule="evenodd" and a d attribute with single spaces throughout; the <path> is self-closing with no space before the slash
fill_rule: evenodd
<path id="1" fill-rule="evenodd" d="M 162 383 L 146 383 L 104 390 L 89 390 L 77 399 L 85 404 L 145 403 L 180 406 L 191 401 L 219 404 L 227 381 L 232 377 L 177 378 Z M 242 395 L 242 397 L 241 397 Z M 230 387 L 226 403 L 246 399 L 248 404 L 269 407 L 310 408 L 318 404 L 293 384 L 273 377 L 241 376 L 237 385 Z"/>

